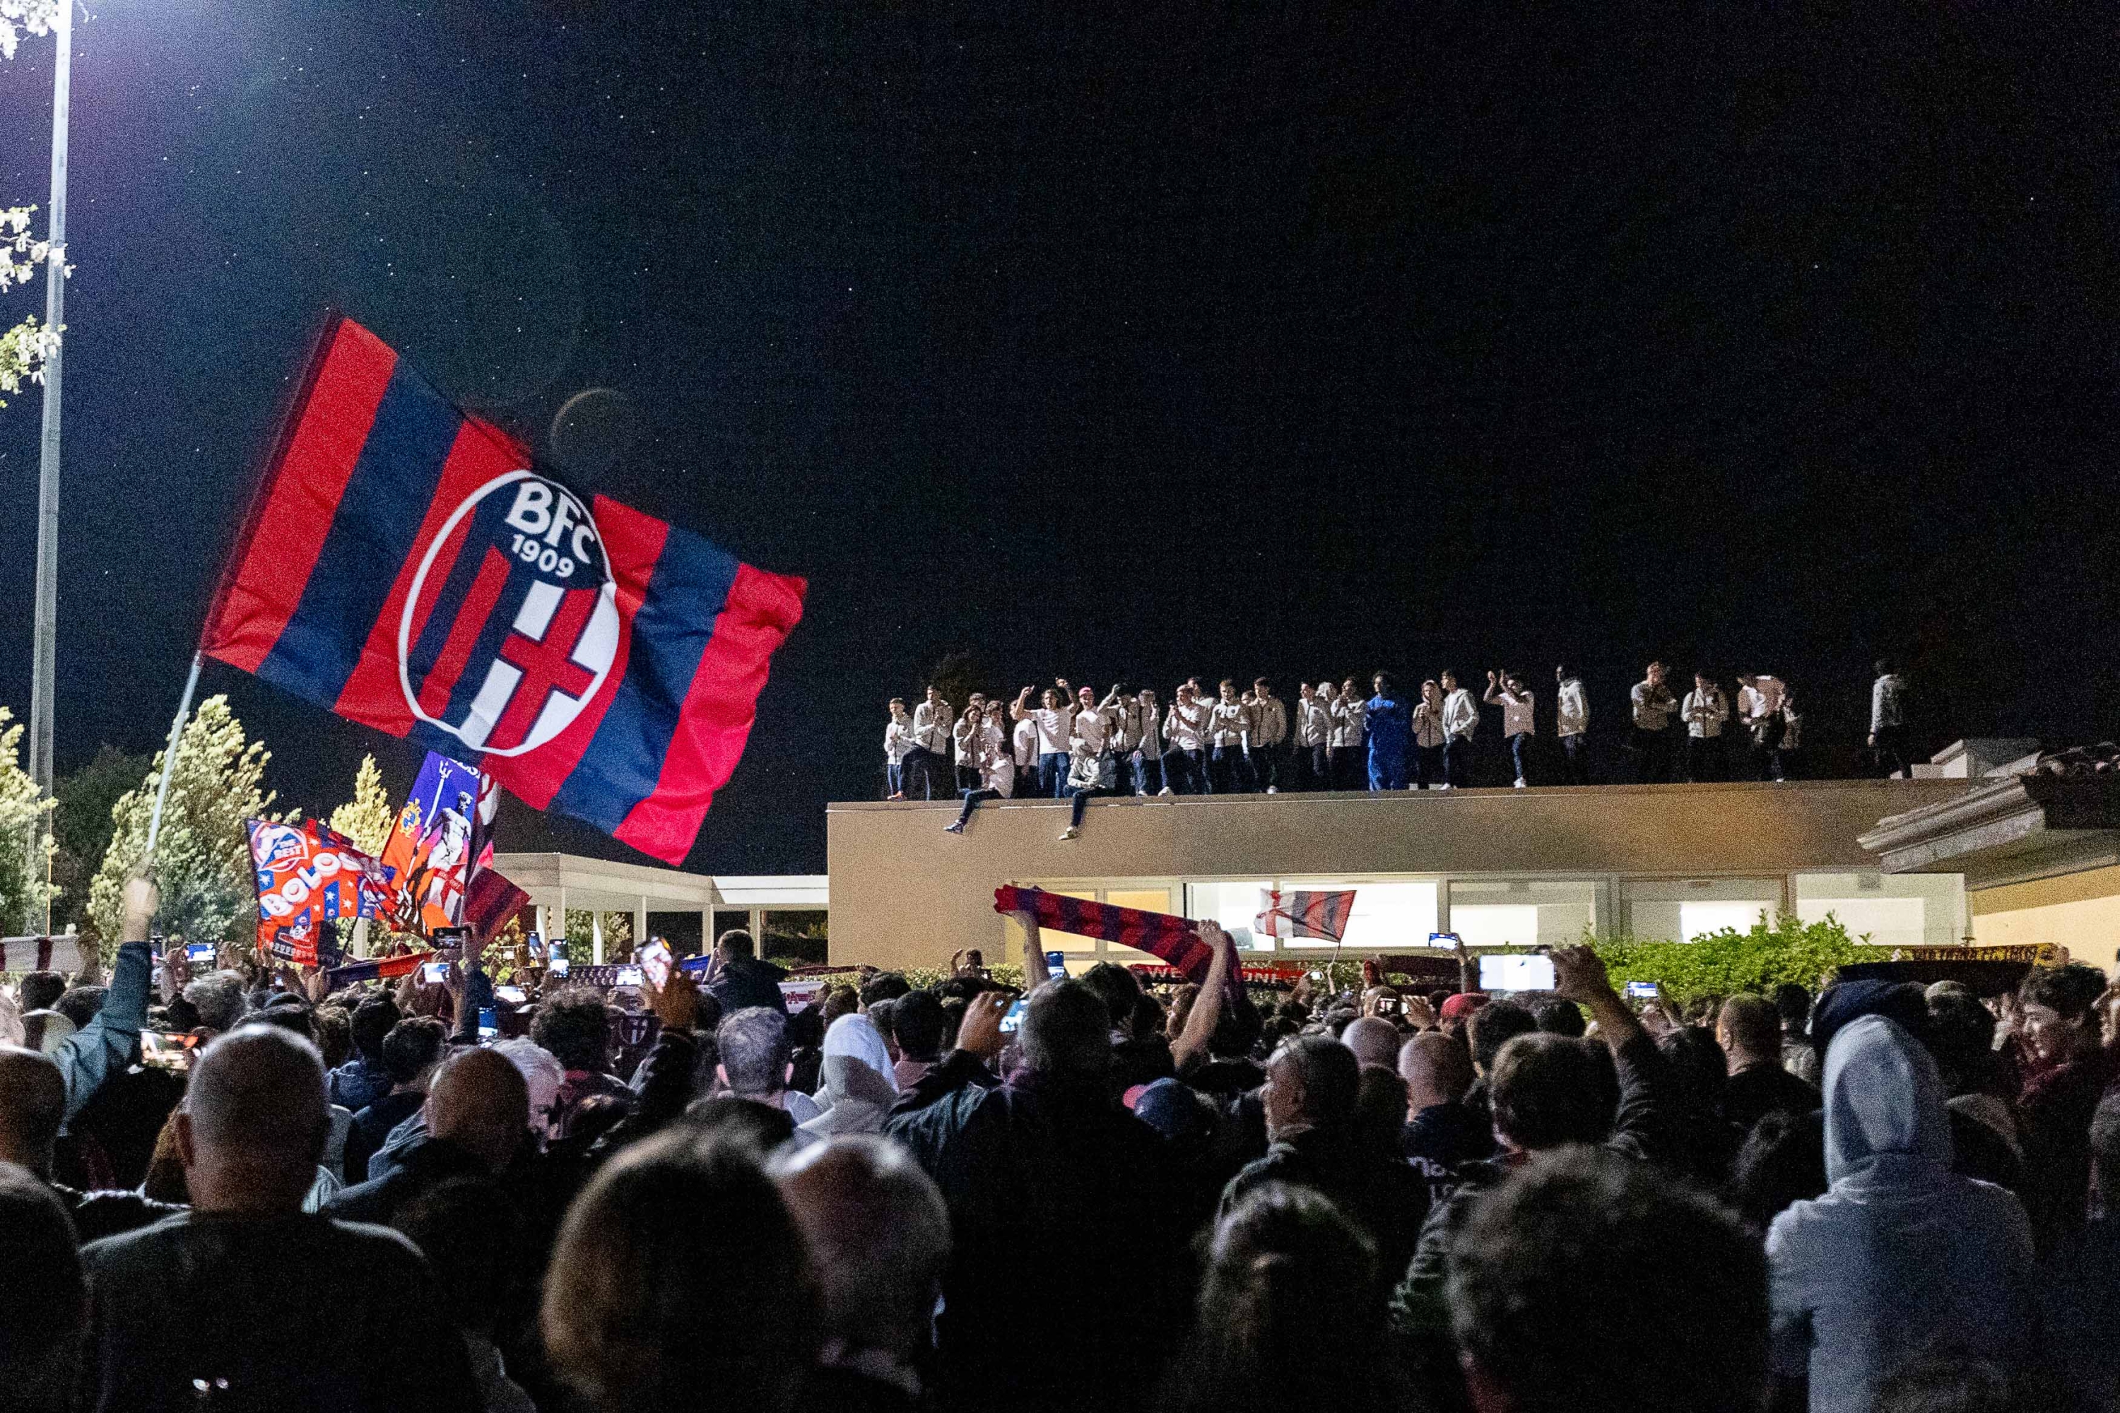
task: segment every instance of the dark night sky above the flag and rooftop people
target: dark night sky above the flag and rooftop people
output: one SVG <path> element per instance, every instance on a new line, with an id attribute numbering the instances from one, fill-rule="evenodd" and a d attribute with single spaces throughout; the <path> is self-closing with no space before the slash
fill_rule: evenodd
<path id="1" fill-rule="evenodd" d="M 1815 741 L 1895 650 L 1944 739 L 2109 735 L 2116 38 L 2088 4 L 106 0 L 61 767 L 165 731 L 326 305 L 541 447 L 619 390 L 642 436 L 577 485 L 810 576 L 695 869 L 823 869 L 882 701 L 952 648 L 1005 691 L 1567 655 L 1607 725 L 1664 655 L 1779 669 Z M 0 68 L 6 199 L 45 199 L 49 55 Z M 36 417 L 0 411 L 17 712 Z M 409 784 L 206 686 L 288 801 L 363 750 Z"/>

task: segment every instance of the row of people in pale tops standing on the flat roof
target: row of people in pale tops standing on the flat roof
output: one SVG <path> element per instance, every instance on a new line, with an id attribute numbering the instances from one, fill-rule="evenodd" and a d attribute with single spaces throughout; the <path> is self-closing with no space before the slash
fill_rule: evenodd
<path id="1" fill-rule="evenodd" d="M 1664 663 L 1649 663 L 1628 699 L 1626 750 L 1637 782 L 1787 780 L 1802 750 L 1804 714 L 1772 674 L 1743 674 L 1736 691 L 1696 672 L 1679 695 Z M 1868 748 L 1878 773 L 1910 775 L 1906 678 L 1876 663 Z M 1567 665 L 1554 667 L 1552 720 L 1558 780 L 1592 784 L 1590 697 Z M 1276 794 L 1280 790 L 1461 790 L 1484 746 L 1482 705 L 1499 708 L 1505 777 L 1533 784 L 1539 695 L 1518 672 L 1486 674 L 1486 691 L 1450 669 L 1403 693 L 1391 674 L 1367 686 L 1304 682 L 1293 701 L 1266 678 L 1213 691 L 1187 678 L 1166 705 L 1153 688 L 1117 682 L 1102 697 L 1066 678 L 1024 686 L 1011 701 L 971 693 L 962 710 L 931 684 L 920 703 L 888 703 L 888 799 L 962 799 L 965 818 L 986 799 L 1096 794 Z M 1079 826 L 1079 813 L 1077 813 Z"/>

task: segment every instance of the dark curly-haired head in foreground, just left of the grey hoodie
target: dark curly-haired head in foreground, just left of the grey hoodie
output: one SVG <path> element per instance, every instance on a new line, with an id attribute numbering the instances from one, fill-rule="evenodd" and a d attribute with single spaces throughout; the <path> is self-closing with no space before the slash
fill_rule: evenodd
<path id="1" fill-rule="evenodd" d="M 1649 1163 L 1577 1148 L 1518 1169 L 1459 1233 L 1448 1301 L 1478 1413 L 1766 1407 L 1766 1254 Z M 1645 1330 L 1675 1352 L 1651 1385 Z"/>

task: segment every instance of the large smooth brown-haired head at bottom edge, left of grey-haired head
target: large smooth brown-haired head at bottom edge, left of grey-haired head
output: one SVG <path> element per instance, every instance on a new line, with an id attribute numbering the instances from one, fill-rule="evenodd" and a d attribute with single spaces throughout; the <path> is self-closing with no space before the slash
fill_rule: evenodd
<path id="1" fill-rule="evenodd" d="M 801 1229 L 757 1159 L 678 1127 L 619 1152 L 568 1208 L 541 1324 L 596 1413 L 787 1413 L 820 1316 Z"/>

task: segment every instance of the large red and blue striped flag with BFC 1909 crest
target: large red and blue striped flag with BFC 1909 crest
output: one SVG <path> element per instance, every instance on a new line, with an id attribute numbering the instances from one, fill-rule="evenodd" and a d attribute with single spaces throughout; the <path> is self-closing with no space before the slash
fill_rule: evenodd
<path id="1" fill-rule="evenodd" d="M 676 864 L 803 591 L 583 502 L 339 318 L 199 646 Z"/>

